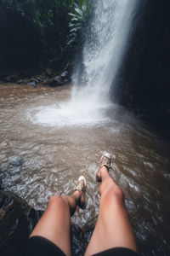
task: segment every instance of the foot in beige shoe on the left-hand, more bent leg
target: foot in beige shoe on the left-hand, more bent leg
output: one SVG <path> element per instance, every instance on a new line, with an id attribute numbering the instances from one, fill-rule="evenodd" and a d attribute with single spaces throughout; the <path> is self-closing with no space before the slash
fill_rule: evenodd
<path id="1" fill-rule="evenodd" d="M 76 190 L 78 190 L 81 193 L 80 199 L 77 203 L 81 209 L 85 209 L 87 206 L 86 197 L 85 197 L 86 189 L 87 189 L 86 179 L 85 177 L 80 176 L 78 178 L 78 185 Z"/>

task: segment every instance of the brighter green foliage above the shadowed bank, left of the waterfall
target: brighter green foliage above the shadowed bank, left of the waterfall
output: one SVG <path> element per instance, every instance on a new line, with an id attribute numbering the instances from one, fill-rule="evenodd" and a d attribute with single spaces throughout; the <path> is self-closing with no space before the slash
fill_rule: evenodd
<path id="1" fill-rule="evenodd" d="M 0 9 L 25 17 L 41 38 L 42 55 L 62 65 L 63 57 L 71 58 L 77 47 L 92 4 L 90 0 L 0 0 Z"/>

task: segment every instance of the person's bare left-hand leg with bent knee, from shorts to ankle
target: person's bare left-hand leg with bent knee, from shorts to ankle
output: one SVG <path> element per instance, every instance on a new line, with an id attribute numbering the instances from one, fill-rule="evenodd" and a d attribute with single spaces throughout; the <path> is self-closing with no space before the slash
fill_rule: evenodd
<path id="1" fill-rule="evenodd" d="M 54 195 L 30 237 L 45 237 L 53 241 L 66 255 L 71 255 L 71 215 L 74 214 L 82 195 L 78 190 L 71 196 Z"/>

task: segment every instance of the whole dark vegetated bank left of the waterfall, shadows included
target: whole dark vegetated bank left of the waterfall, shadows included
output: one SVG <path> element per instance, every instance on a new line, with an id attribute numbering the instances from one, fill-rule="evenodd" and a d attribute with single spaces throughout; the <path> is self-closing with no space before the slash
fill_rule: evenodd
<path id="1" fill-rule="evenodd" d="M 69 70 L 90 9 L 88 0 L 1 0 L 0 78 Z"/>

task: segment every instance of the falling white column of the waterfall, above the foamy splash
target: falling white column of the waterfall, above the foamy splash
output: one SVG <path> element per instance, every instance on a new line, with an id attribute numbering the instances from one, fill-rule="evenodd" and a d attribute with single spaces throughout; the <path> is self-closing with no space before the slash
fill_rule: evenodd
<path id="1" fill-rule="evenodd" d="M 121 67 L 137 0 L 94 1 L 94 16 L 87 28 L 82 70 L 73 73 L 73 99 L 108 101 L 111 85 Z M 80 73 L 82 75 L 80 76 Z M 80 85 L 80 86 L 79 86 Z M 83 85 L 83 86 L 82 86 Z"/>

